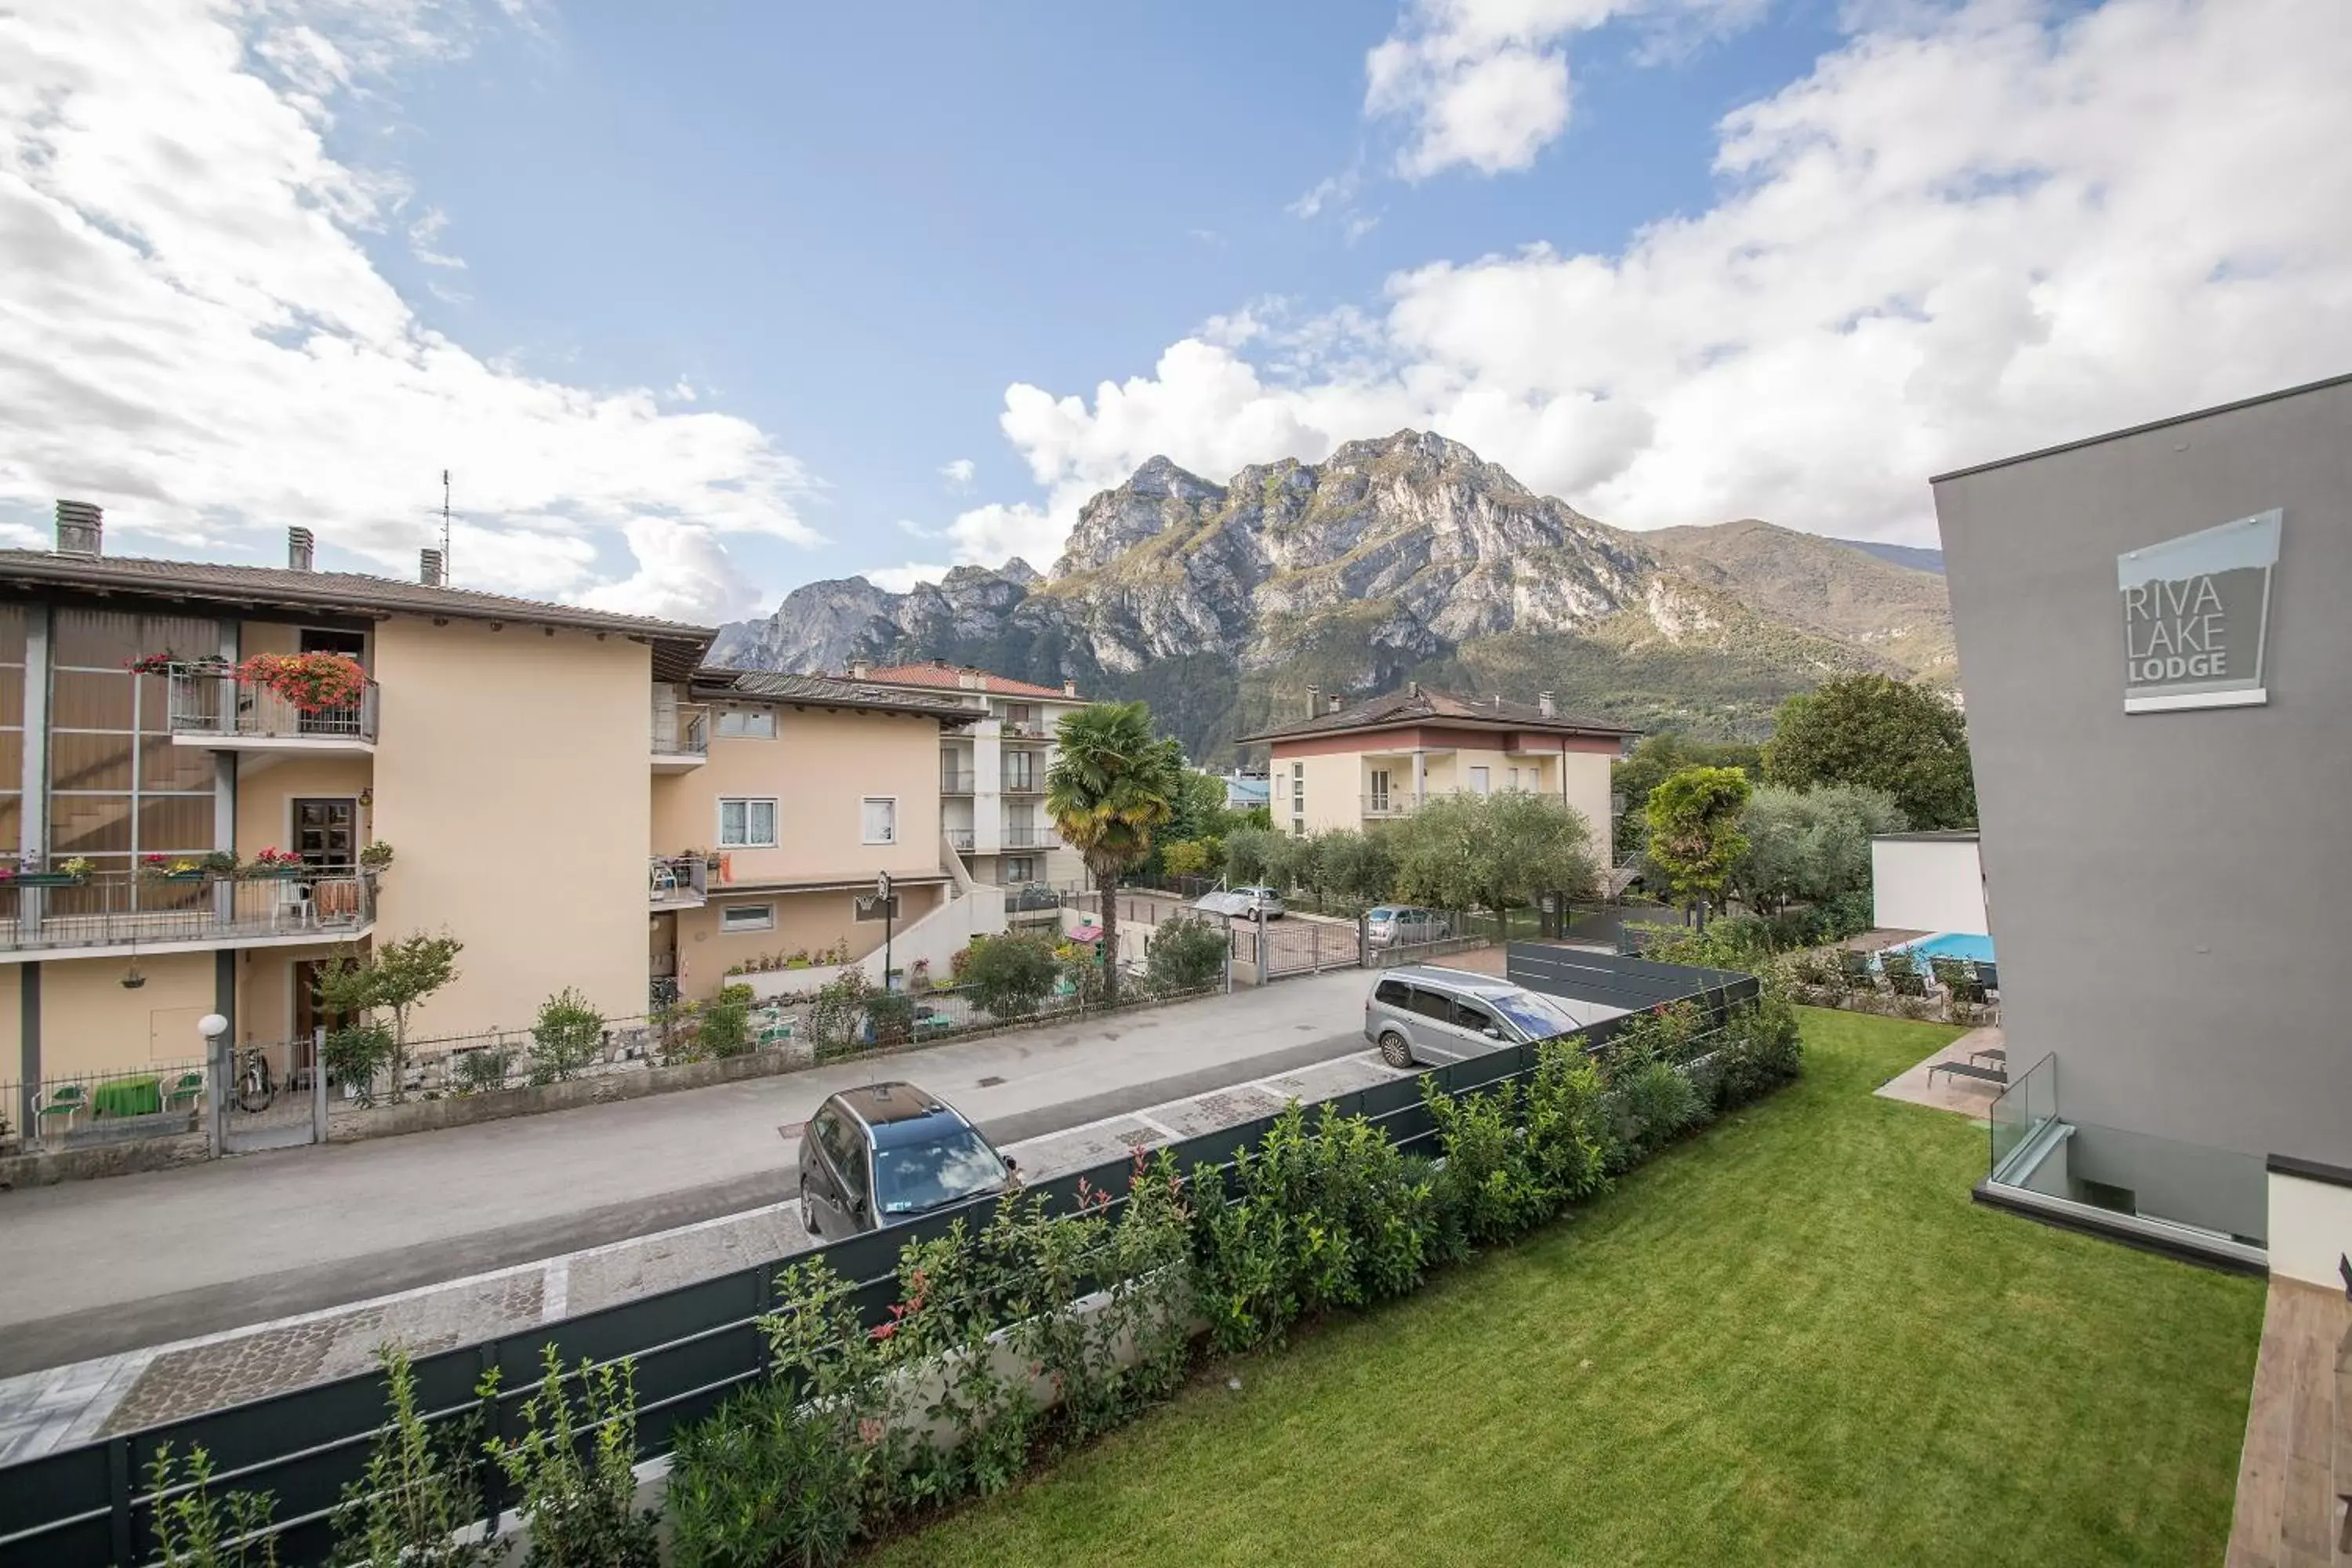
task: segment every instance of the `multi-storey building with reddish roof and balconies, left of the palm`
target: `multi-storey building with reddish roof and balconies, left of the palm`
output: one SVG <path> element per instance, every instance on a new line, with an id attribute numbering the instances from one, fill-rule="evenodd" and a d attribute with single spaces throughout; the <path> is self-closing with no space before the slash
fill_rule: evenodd
<path id="1" fill-rule="evenodd" d="M 948 844 L 978 882 L 1018 889 L 1033 882 L 1075 884 L 1077 851 L 1044 813 L 1044 776 L 1054 766 L 1054 726 L 1084 708 L 1075 682 L 1040 686 L 943 658 L 913 665 L 849 665 L 849 679 L 887 691 L 950 696 L 971 724 L 941 738 L 938 792 Z"/>

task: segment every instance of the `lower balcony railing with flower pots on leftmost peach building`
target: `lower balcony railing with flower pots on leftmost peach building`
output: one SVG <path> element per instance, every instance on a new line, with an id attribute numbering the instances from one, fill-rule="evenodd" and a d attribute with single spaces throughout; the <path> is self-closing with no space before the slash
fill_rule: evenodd
<path id="1" fill-rule="evenodd" d="M 0 884 L 0 952 L 332 940 L 372 924 L 376 884 L 350 865 L 214 882 L 96 872 L 73 886 Z"/>

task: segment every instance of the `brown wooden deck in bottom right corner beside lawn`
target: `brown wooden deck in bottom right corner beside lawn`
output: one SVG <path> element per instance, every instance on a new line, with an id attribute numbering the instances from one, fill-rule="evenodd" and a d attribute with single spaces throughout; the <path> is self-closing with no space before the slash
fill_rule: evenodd
<path id="1" fill-rule="evenodd" d="M 2345 1493 L 2352 1493 L 2352 1302 L 2336 1288 L 2272 1279 L 2227 1568 L 2352 1563 Z"/>

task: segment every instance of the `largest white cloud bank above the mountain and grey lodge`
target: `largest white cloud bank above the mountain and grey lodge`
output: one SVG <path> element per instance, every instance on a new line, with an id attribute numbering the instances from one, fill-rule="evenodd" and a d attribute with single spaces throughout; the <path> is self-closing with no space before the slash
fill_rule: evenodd
<path id="1" fill-rule="evenodd" d="M 964 512 L 957 559 L 1051 559 L 1152 454 L 1223 480 L 1404 425 L 1628 527 L 1933 543 L 1940 468 L 2352 360 L 2352 7 L 1870 16 L 1724 118 L 1712 209 L 1618 254 L 1437 261 L 1378 317 L 1254 308 L 1091 402 L 1009 388 L 1044 498 Z"/>

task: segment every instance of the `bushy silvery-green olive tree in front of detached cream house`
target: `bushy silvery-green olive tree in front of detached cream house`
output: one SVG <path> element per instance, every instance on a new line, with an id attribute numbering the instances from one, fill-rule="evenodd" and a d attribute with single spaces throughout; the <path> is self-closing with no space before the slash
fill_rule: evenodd
<path id="1" fill-rule="evenodd" d="M 1395 893 L 1439 910 L 1508 910 L 1538 893 L 1590 898 L 1599 884 L 1592 825 L 1550 795 L 1437 795 L 1388 830 Z"/>

